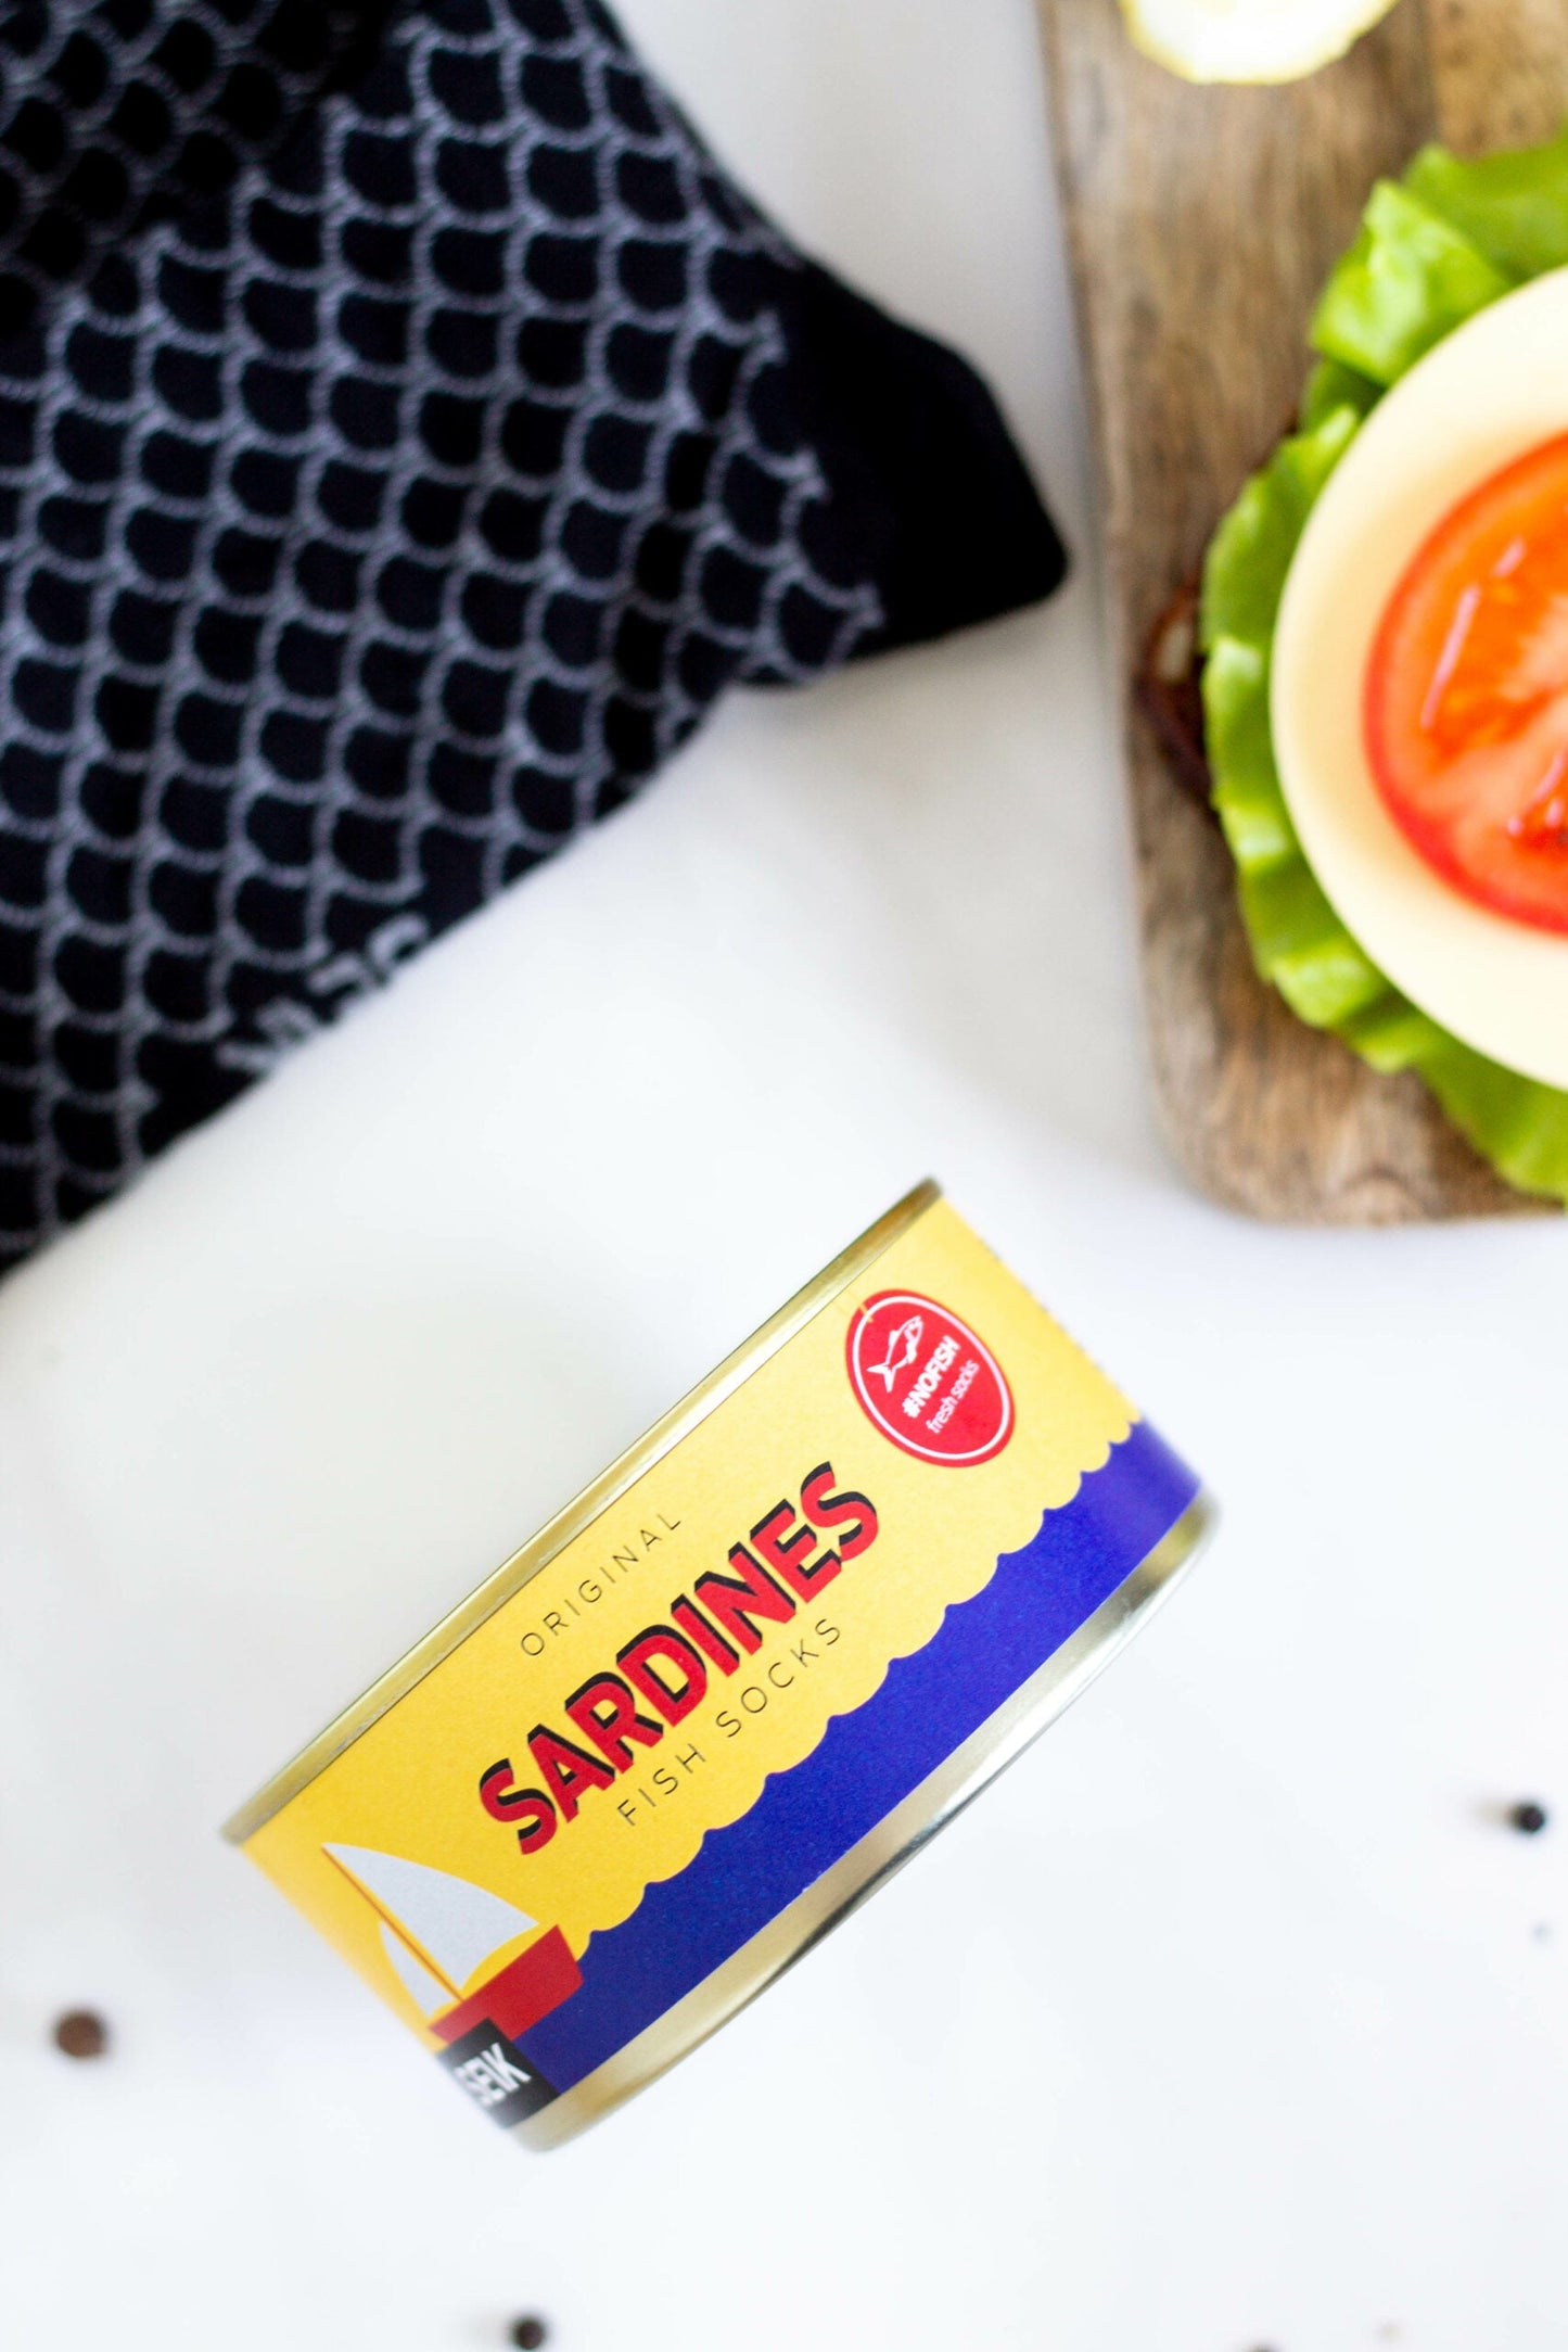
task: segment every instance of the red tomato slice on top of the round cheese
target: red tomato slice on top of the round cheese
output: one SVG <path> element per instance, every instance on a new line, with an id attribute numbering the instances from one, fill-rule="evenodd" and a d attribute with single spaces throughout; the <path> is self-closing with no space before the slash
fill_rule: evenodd
<path id="1" fill-rule="evenodd" d="M 1568 931 L 1568 433 L 1460 499 L 1366 666 L 1378 790 L 1467 898 Z"/>

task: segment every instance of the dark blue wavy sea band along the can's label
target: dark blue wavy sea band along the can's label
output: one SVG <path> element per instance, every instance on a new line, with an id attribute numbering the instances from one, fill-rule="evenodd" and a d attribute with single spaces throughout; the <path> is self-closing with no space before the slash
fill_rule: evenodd
<path id="1" fill-rule="evenodd" d="M 912 1658 L 896 1658 L 863 1708 L 835 1717 L 750 1813 L 710 1830 L 630 1919 L 592 1936 L 581 1987 L 522 2037 L 529 2060 L 569 2091 L 701 1985 L 1039 1672 L 1197 1491 L 1164 1439 L 1133 1423 L 1072 1503 L 1004 1552 L 985 1590 L 952 1606 Z"/>

